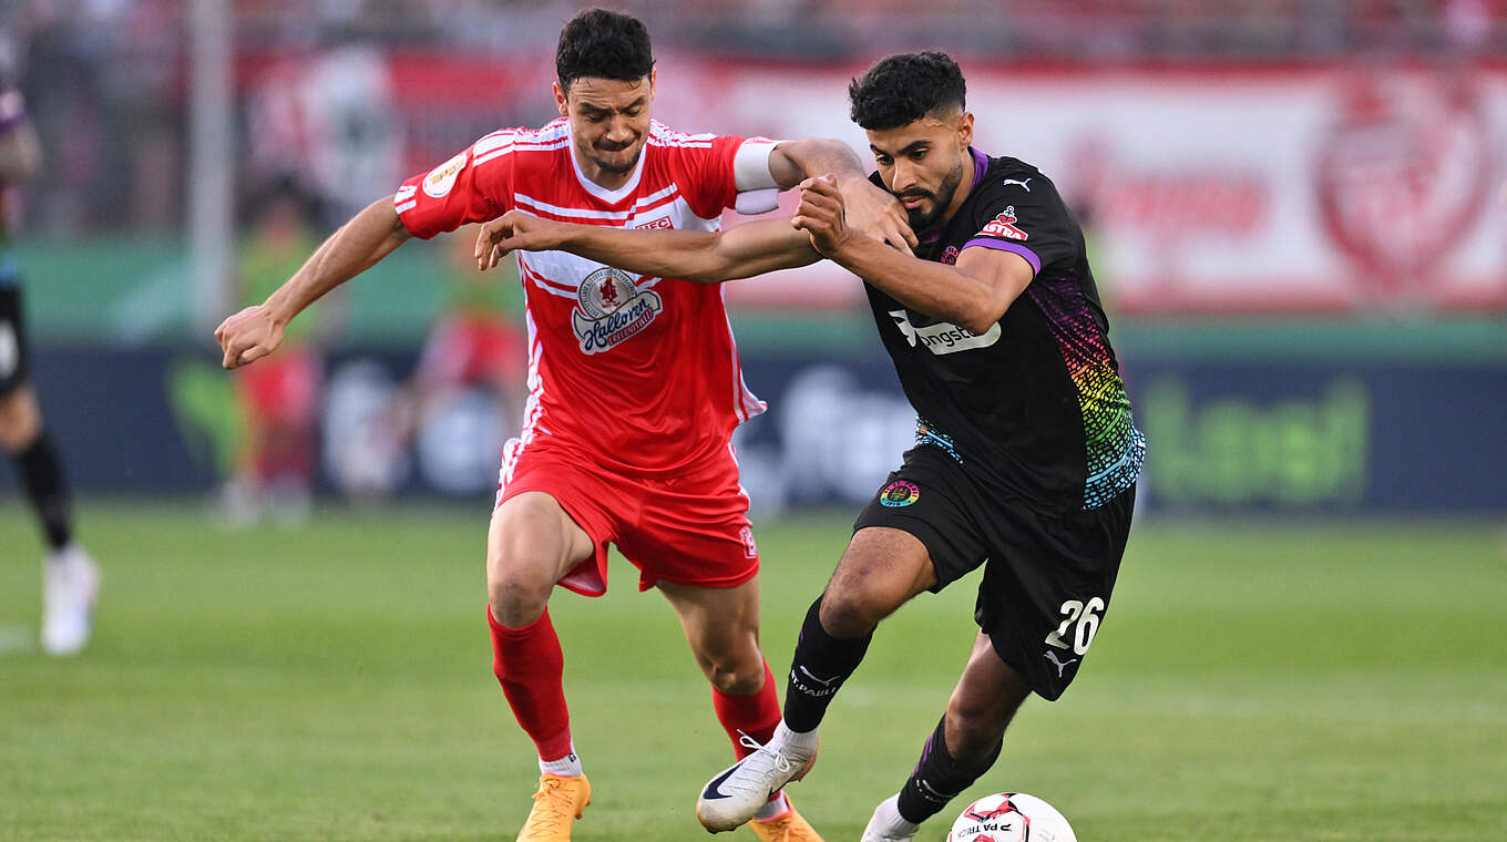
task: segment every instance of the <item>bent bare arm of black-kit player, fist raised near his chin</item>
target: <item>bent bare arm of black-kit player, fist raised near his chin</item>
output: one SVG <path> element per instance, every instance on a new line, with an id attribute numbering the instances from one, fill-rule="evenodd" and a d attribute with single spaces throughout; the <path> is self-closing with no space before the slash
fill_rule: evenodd
<path id="1" fill-rule="evenodd" d="M 964 249 L 957 265 L 895 255 L 883 243 L 847 227 L 842 194 L 827 178 L 800 182 L 791 224 L 809 233 L 823 256 L 918 313 L 987 333 L 1031 283 L 1025 258 L 993 249 Z"/>

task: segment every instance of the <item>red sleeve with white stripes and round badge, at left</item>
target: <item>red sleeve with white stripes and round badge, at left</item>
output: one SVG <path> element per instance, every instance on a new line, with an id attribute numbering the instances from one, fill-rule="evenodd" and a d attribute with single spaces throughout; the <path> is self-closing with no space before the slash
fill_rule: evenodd
<path id="1" fill-rule="evenodd" d="M 402 182 L 393 209 L 408 233 L 428 239 L 505 214 L 512 205 L 514 137 L 512 131 L 488 134 L 428 173 Z"/>

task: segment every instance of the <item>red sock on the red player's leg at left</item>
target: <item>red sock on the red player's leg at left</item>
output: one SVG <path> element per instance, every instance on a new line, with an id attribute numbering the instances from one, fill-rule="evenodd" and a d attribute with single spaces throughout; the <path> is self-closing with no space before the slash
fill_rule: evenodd
<path id="1" fill-rule="evenodd" d="M 491 672 L 502 684 L 514 718 L 533 740 L 540 759 L 558 761 L 570 755 L 570 711 L 565 709 L 565 655 L 555 634 L 549 609 L 533 624 L 508 628 L 491 616 Z"/>

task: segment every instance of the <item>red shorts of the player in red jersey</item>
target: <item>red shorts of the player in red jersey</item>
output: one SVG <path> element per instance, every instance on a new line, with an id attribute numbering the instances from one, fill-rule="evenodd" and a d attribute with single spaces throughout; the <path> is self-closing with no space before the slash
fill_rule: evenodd
<path id="1" fill-rule="evenodd" d="M 669 479 L 604 470 L 550 438 L 503 449 L 497 505 L 543 491 L 591 536 L 597 551 L 559 584 L 585 596 L 607 592 L 607 544 L 639 568 L 639 590 L 660 580 L 696 587 L 735 587 L 758 574 L 749 499 L 728 447 Z"/>

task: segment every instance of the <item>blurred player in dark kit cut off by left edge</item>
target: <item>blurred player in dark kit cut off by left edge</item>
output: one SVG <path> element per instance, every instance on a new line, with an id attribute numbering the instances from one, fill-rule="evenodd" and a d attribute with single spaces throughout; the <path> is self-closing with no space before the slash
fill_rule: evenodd
<path id="1" fill-rule="evenodd" d="M 72 500 L 57 447 L 42 426 L 27 372 L 21 279 L 11 255 L 21 182 L 42 166 L 41 143 L 21 92 L 0 78 L 0 447 L 21 479 L 47 535 L 42 574 L 42 649 L 72 655 L 89 642 L 99 569 L 74 541 Z"/>

